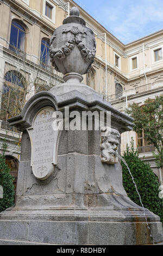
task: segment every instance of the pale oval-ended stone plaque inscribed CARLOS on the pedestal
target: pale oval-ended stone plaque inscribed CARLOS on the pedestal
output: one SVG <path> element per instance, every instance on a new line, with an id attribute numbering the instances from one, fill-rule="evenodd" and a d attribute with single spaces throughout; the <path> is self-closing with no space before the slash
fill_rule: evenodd
<path id="1" fill-rule="evenodd" d="M 54 109 L 42 108 L 28 129 L 32 147 L 31 166 L 35 178 L 47 179 L 57 164 L 57 147 L 59 131 L 53 130 Z"/>

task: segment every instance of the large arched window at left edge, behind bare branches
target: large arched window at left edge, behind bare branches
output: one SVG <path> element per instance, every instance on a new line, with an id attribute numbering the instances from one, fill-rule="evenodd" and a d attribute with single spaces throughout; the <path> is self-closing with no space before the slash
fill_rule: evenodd
<path id="1" fill-rule="evenodd" d="M 8 71 L 4 76 L 1 103 L 1 119 L 6 121 L 21 113 L 25 103 L 25 79 L 15 70 Z"/>

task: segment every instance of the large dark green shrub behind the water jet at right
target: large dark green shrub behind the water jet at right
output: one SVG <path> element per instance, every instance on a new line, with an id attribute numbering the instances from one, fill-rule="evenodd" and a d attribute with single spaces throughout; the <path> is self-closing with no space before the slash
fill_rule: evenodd
<path id="1" fill-rule="evenodd" d="M 149 163 L 142 161 L 139 158 L 138 151 L 134 150 L 133 139 L 131 141 L 131 149 L 129 149 L 128 145 L 126 149 L 126 152 L 123 154 L 123 159 L 127 162 L 130 172 L 134 177 L 143 206 L 158 215 L 163 223 L 163 199 L 160 199 L 158 196 L 160 186 L 159 181 L 149 166 Z M 137 205 L 142 206 L 129 171 L 123 162 L 121 164 L 123 187 L 126 190 L 128 197 Z"/>

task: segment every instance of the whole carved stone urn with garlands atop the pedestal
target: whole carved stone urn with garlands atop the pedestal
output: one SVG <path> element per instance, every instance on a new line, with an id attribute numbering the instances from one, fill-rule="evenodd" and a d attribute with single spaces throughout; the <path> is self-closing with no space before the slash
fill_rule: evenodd
<path id="1" fill-rule="evenodd" d="M 82 75 L 91 68 L 96 54 L 95 35 L 79 17 L 73 7 L 63 25 L 55 29 L 50 43 L 50 57 L 55 70 L 64 74 L 64 80 L 72 77 L 83 80 Z"/>

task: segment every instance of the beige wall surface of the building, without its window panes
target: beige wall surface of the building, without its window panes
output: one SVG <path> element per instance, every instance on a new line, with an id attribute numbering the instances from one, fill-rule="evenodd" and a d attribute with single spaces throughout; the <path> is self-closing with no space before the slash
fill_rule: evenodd
<path id="1" fill-rule="evenodd" d="M 53 7 L 52 19 L 45 15 L 46 2 Z M 154 59 L 155 50 L 161 48 L 163 51 L 163 30 L 124 45 L 76 3 L 72 0 L 69 2 L 70 8 L 74 5 L 79 8 L 80 16 L 85 19 L 86 26 L 90 27 L 96 36 L 95 62 L 89 74 L 84 75 L 84 83 L 104 95 L 111 101 L 113 107 L 123 112 L 129 103 L 136 102 L 143 105 L 148 97 L 154 98 L 163 93 L 163 59 L 158 61 Z M 3 77 L 8 67 L 13 65 L 23 70 L 20 62 L 18 63 L 14 59 L 14 53 L 10 52 L 9 56 L 12 20 L 20 22 L 26 29 L 24 52 L 34 70 L 35 65 L 40 65 L 41 40 L 43 38 L 50 39 L 55 28 L 62 25 L 62 20 L 67 16 L 68 5 L 66 3 L 67 1 L 64 0 L 4 0 L 0 2 L 1 92 Z M 105 82 L 105 41 L 104 36 L 101 35 L 103 33 L 106 33 L 108 92 L 106 92 Z M 118 57 L 118 66 L 116 66 L 116 56 Z M 135 57 L 137 58 L 137 68 L 133 69 L 132 59 Z M 53 72 L 55 71 L 53 70 Z M 30 76 L 34 77 L 34 72 L 31 72 Z M 30 76 L 28 74 L 28 79 Z M 45 84 L 51 83 L 48 79 L 49 72 L 42 70 L 40 80 L 45 81 Z M 116 84 L 120 84 L 122 87 L 122 92 L 119 94 Z M 33 88 L 28 97 L 34 93 L 35 89 Z M 130 142 L 131 137 L 134 138 L 135 148 L 137 147 L 136 134 L 133 131 L 127 132 L 122 135 L 122 152 L 126 149 L 126 142 Z M 148 155 L 146 154 L 147 159 Z M 152 161 L 151 158 L 150 161 Z M 153 168 L 155 170 L 155 167 Z"/>

